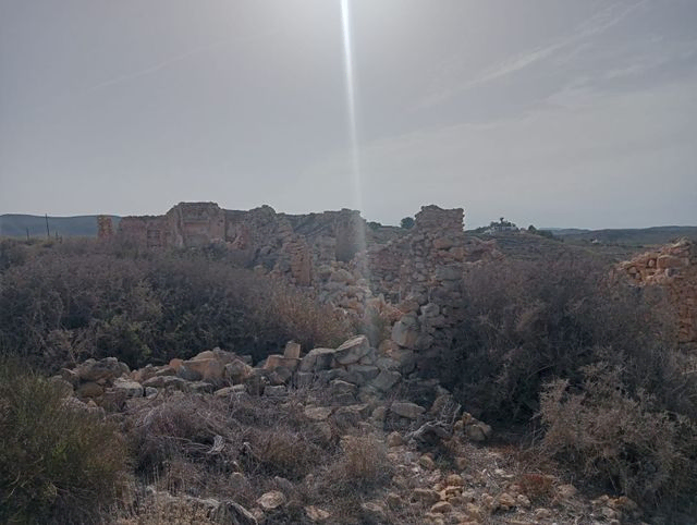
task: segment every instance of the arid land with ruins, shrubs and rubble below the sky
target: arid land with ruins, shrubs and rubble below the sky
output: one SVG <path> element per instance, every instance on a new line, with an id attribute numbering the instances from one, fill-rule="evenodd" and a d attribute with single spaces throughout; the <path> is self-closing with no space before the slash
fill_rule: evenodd
<path id="1" fill-rule="evenodd" d="M 0 521 L 695 523 L 695 243 L 463 218 L 2 240 Z"/>

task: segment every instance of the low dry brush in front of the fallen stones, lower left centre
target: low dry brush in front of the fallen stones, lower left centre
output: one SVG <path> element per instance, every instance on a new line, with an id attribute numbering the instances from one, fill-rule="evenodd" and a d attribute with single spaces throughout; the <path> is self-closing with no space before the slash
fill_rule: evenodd
<path id="1" fill-rule="evenodd" d="M 280 476 L 296 483 L 318 469 L 333 447 L 288 399 L 218 399 L 178 394 L 127 416 L 137 472 L 171 493 L 216 493 L 254 504 Z M 279 404 L 282 403 L 282 406 Z M 222 450 L 211 453 L 216 440 Z M 233 472 L 247 480 L 230 484 Z"/>

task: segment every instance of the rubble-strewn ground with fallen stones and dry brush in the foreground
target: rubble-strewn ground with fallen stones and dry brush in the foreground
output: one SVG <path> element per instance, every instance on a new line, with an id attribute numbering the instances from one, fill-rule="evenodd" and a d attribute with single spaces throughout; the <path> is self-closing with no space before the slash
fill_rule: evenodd
<path id="1" fill-rule="evenodd" d="M 298 350 L 289 344 L 286 353 Z M 337 350 L 327 352 L 337 358 Z M 316 358 L 307 355 L 297 368 Z M 211 363 L 225 361 L 222 377 L 206 377 L 215 375 Z M 436 381 L 380 393 L 327 381 L 322 371 L 344 369 L 327 361 L 314 381 L 274 387 L 278 357 L 276 369 L 241 363 L 222 351 L 134 371 L 113 358 L 90 359 L 52 379 L 72 407 L 117 422 L 129 438 L 136 475 L 106 521 L 640 523 L 628 498 L 591 500 L 549 463 L 492 444 L 491 428 Z M 235 374 L 236 384 L 225 386 Z"/>

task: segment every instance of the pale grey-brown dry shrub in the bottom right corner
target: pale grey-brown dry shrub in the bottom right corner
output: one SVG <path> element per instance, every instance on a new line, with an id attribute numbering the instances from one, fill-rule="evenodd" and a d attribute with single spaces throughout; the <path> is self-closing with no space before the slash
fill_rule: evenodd
<path id="1" fill-rule="evenodd" d="M 584 371 L 582 389 L 558 380 L 542 394 L 542 449 L 645 504 L 689 502 L 697 490 L 695 422 L 660 410 L 644 391 L 629 395 L 616 367 Z"/>

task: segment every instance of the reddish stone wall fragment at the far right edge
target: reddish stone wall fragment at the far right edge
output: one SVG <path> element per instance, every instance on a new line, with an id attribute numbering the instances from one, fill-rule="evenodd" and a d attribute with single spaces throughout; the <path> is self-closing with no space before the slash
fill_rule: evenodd
<path id="1" fill-rule="evenodd" d="M 639 286 L 660 286 L 678 316 L 678 341 L 697 346 L 697 245 L 687 240 L 647 252 L 619 266 Z"/>

